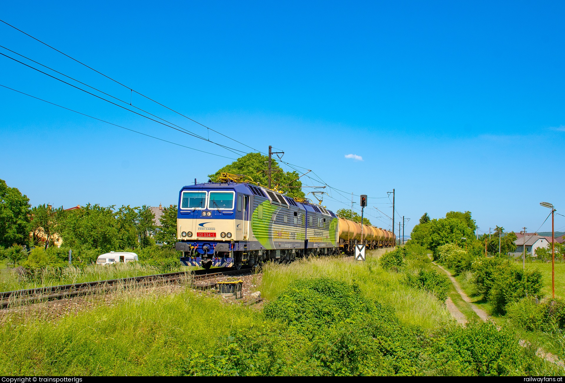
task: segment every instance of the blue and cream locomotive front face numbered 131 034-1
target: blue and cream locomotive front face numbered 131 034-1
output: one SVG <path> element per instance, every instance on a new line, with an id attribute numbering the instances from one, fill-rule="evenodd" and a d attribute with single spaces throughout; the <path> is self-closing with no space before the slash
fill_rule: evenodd
<path id="1" fill-rule="evenodd" d="M 238 193 L 238 189 L 239 190 Z M 179 193 L 176 250 L 185 266 L 210 268 L 234 264 L 234 241 L 247 240 L 249 201 L 245 185 L 197 184 Z M 247 191 L 247 193 L 249 193 Z"/>

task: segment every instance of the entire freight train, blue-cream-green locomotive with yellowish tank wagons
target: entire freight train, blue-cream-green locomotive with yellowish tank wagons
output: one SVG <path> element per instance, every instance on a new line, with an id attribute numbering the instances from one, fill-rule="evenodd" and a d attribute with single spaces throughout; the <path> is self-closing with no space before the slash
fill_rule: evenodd
<path id="1" fill-rule="evenodd" d="M 307 199 L 248 182 L 207 182 L 179 193 L 176 250 L 181 264 L 210 268 L 352 254 L 356 243 L 393 246 L 387 230 L 338 217 Z"/>

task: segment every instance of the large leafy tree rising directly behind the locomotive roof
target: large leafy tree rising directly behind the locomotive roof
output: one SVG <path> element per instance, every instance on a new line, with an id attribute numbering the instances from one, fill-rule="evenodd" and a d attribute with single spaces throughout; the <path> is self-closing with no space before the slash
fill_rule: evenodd
<path id="1" fill-rule="evenodd" d="M 231 164 L 224 166 L 214 174 L 208 175 L 208 177 L 210 177 L 212 181 L 216 182 L 221 173 L 241 174 L 251 177 L 251 179 L 255 182 L 259 182 L 263 186 L 267 186 L 268 160 L 268 156 L 260 153 L 249 153 L 238 158 Z M 304 192 L 302 191 L 302 181 L 298 179 L 300 176 L 298 172 L 285 172 L 275 159 L 271 160 L 271 170 L 272 188 L 274 188 L 275 185 L 280 185 L 280 190 L 289 197 L 305 197 Z"/>

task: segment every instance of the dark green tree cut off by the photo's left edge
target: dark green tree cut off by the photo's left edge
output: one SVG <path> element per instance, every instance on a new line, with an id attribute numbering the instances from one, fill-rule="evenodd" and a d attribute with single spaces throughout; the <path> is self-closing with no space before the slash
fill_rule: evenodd
<path id="1" fill-rule="evenodd" d="M 0 180 L 0 246 L 28 242 L 29 198 Z"/>

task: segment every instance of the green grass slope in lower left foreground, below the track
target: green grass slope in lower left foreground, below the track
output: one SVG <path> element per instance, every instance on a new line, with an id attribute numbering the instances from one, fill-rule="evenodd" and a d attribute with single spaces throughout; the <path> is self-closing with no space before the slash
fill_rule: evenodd
<path id="1" fill-rule="evenodd" d="M 101 304 L 59 320 L 0 317 L 0 374 L 179 375 L 194 352 L 262 321 L 251 308 L 189 289 L 116 290 Z"/>

